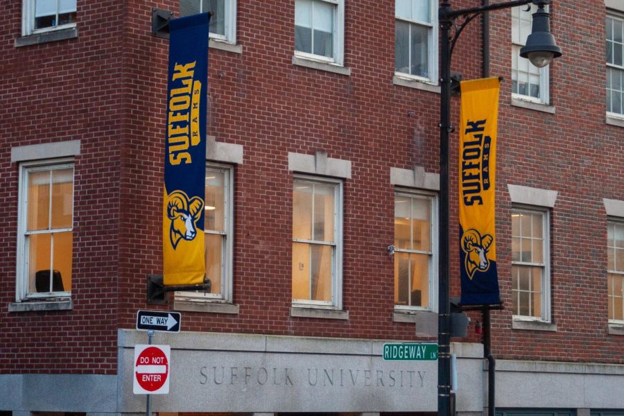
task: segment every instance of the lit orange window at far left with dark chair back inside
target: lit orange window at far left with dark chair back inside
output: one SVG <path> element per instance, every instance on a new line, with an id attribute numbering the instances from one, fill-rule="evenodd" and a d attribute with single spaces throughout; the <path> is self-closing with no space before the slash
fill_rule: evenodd
<path id="1" fill-rule="evenodd" d="M 21 164 L 17 297 L 68 297 L 73 244 L 73 163 Z"/>

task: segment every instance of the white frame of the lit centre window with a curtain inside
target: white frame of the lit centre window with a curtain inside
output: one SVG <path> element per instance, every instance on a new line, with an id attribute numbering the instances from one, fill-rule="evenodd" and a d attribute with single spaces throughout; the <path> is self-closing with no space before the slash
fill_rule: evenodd
<path id="1" fill-rule="evenodd" d="M 311 184 L 324 184 L 334 187 L 333 203 L 333 263 L 331 266 L 331 300 L 329 302 L 320 300 L 302 300 L 292 298 L 293 307 L 319 308 L 319 309 L 343 309 L 343 193 L 344 182 L 342 180 L 333 179 L 331 177 L 318 177 L 312 175 L 295 174 L 293 177 L 293 185 L 295 182 L 309 182 Z M 293 186 L 294 188 L 294 186 Z M 293 190 L 294 191 L 294 190 Z M 292 243 L 314 244 L 318 241 L 292 239 Z M 293 261 L 293 252 L 291 245 L 291 262 Z M 292 279 L 292 275 L 291 275 Z M 291 289 L 292 290 L 292 289 Z M 292 293 L 292 292 L 291 292 Z"/>

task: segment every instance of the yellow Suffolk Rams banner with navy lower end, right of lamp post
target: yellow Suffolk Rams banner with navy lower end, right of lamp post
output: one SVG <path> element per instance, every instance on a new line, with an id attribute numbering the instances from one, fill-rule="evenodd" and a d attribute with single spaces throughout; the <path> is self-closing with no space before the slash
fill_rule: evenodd
<path id="1" fill-rule="evenodd" d="M 494 214 L 499 89 L 499 78 L 461 83 L 459 251 L 462 306 L 501 302 Z"/>

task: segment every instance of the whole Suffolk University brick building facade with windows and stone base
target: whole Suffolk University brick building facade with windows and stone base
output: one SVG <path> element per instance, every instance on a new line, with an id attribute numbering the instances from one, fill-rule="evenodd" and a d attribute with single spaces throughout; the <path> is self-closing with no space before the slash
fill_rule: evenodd
<path id="1" fill-rule="evenodd" d="M 218 278 L 211 295 L 153 306 L 168 57 L 151 15 L 200 3 L 6 4 L 0 411 L 144 411 L 131 391 L 132 347 L 146 343 L 135 321 L 158 309 L 181 311 L 182 333 L 155 337 L 171 345 L 172 384 L 154 411 L 435 412 L 435 363 L 382 361 L 381 346 L 437 337 L 437 2 L 203 2 L 216 12 L 207 235 Z M 512 58 L 527 12 L 493 12 L 489 23 L 491 73 L 505 78 L 496 404 L 623 415 L 624 4 L 555 1 L 550 11 L 564 55 L 546 73 Z M 481 76 L 481 34 L 474 21 L 454 52 L 464 79 Z M 458 108 L 455 97 L 455 123 Z M 454 242 L 456 134 L 450 146 Z M 453 295 L 458 274 L 453 243 Z M 463 415 L 487 406 L 480 315 L 470 316 L 469 336 L 453 338 Z"/>

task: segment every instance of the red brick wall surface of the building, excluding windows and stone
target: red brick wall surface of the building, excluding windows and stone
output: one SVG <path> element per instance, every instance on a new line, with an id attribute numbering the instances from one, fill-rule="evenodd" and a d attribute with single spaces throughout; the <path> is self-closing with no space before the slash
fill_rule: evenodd
<path id="1" fill-rule="evenodd" d="M 137 309 L 155 308 L 146 305 L 145 288 L 147 274 L 162 272 L 168 44 L 150 34 L 150 10 L 177 14 L 176 3 L 108 1 L 102 12 L 96 2 L 79 0 L 78 39 L 18 49 L 13 42 L 21 11 L 17 4 L 8 10 L 10 33 L 2 31 L 0 42 L 13 64 L 2 70 L 1 88 L 9 93 L 0 95 L 0 112 L 3 120 L 18 109 L 21 116 L 0 125 L 0 203 L 7 218 L 0 230 L 7 242 L 0 257 L 4 304 L 15 293 L 17 165 L 10 164 L 10 147 L 81 139 L 83 152 L 76 158 L 73 311 L 3 312 L 0 343 L 8 347 L 0 352 L 1 372 L 114 373 L 116 328 L 134 327 Z M 476 3 L 453 1 L 453 7 Z M 553 33 L 565 53 L 551 68 L 555 115 L 510 106 L 510 12 L 492 13 L 492 75 L 505 77 L 497 232 L 506 304 L 511 293 L 507 185 L 559 192 L 551 216 L 552 314 L 558 330 L 512 330 L 511 312 L 494 312 L 494 351 L 501 358 L 623 363 L 621 337 L 607 336 L 606 325 L 602 198 L 624 200 L 624 149 L 621 128 L 604 123 L 605 10 L 602 1 L 555 3 Z M 242 55 L 209 51 L 209 134 L 245 148 L 234 185 L 234 302 L 240 313 L 185 312 L 184 330 L 415 338 L 413 324 L 392 322 L 393 259 L 386 252 L 394 232 L 390 167 L 417 165 L 437 173 L 439 95 L 392 85 L 393 5 L 347 0 L 345 66 L 352 69 L 347 77 L 293 66 L 293 1 L 239 0 Z M 478 21 L 462 34 L 453 71 L 465 79 L 480 76 Z M 454 98 L 455 123 L 458 103 Z M 454 160 L 456 135 L 451 139 Z M 344 193 L 347 321 L 289 317 L 288 152 L 317 150 L 352 162 Z M 452 180 L 451 242 L 458 229 L 456 185 Z M 453 243 L 453 295 L 459 294 L 458 262 Z M 26 333 L 18 336 L 20 329 Z"/>

